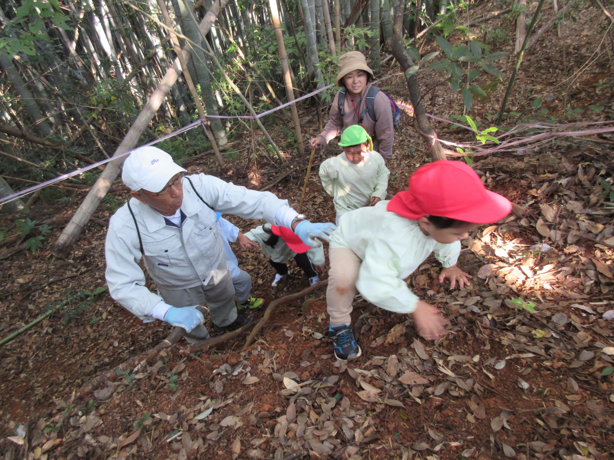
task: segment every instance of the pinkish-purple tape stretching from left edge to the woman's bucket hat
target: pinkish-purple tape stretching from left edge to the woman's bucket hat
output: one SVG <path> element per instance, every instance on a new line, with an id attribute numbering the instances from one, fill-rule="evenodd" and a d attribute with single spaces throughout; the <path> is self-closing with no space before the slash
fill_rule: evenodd
<path id="1" fill-rule="evenodd" d="M 315 94 L 322 93 L 322 91 L 327 90 L 331 86 L 333 86 L 333 85 L 332 84 L 331 85 L 327 85 L 327 86 L 319 88 L 319 89 L 317 89 L 315 91 L 311 91 L 311 93 L 305 94 L 305 96 L 301 96 L 300 98 L 294 99 L 294 101 L 292 101 L 292 102 L 286 102 L 286 104 L 279 105 L 279 107 L 275 107 L 274 109 L 267 110 L 266 112 L 263 112 L 263 113 L 260 113 L 260 114 L 256 115 L 256 117 L 254 117 L 252 115 L 238 115 L 238 116 L 233 116 L 233 117 L 225 117 L 223 115 L 206 115 L 205 120 L 194 121 L 193 123 L 190 123 L 190 125 L 184 126 L 183 128 L 180 128 L 180 129 L 177 129 L 177 131 L 173 131 L 170 134 L 166 134 L 166 136 L 160 137 L 160 139 L 152 140 L 152 142 L 148 142 L 147 144 L 141 145 L 139 147 L 147 147 L 149 145 L 157 144 L 158 142 L 161 142 L 163 140 L 169 139 L 170 137 L 177 136 L 177 134 L 181 134 L 182 132 L 188 131 L 188 129 L 192 129 L 195 126 L 198 126 L 198 125 L 203 125 L 204 126 L 204 123 L 206 123 L 206 118 L 252 118 L 252 119 L 255 119 L 255 118 L 264 117 L 265 115 L 270 115 L 270 113 L 277 112 L 278 110 L 281 110 L 284 107 L 287 107 L 288 105 L 295 104 L 296 102 L 302 101 L 303 99 L 311 98 L 311 96 L 314 96 Z M 115 159 L 122 158 L 123 156 L 126 156 L 126 155 L 130 155 L 130 153 L 132 153 L 134 150 L 136 150 L 136 148 L 138 148 L 138 147 L 135 147 L 135 148 L 133 148 L 131 150 L 128 150 L 128 151 L 122 153 L 121 155 L 115 155 L 115 156 L 112 156 L 111 158 L 103 159 L 103 160 L 98 161 L 98 162 L 96 162 L 94 164 L 90 164 L 89 166 L 85 166 L 85 167 L 76 169 L 75 171 L 72 171 L 72 172 L 67 172 L 66 174 L 62 174 L 62 175 L 60 175 L 60 176 L 58 176 L 56 178 L 53 178 L 53 179 L 47 180 L 45 182 L 39 183 L 37 185 L 33 185 L 31 187 L 25 188 L 23 190 L 20 190 L 18 192 L 10 194 L 9 196 L 6 196 L 4 198 L 0 198 L 0 205 L 4 204 L 4 203 L 7 203 L 9 201 L 13 201 L 13 200 L 15 200 L 17 198 L 20 198 L 22 196 L 26 196 L 29 193 L 33 193 L 34 191 L 37 191 L 37 190 L 39 190 L 39 189 L 41 189 L 43 187 L 46 187 L 47 185 L 52 185 L 52 184 L 54 184 L 56 182 L 61 182 L 64 179 L 68 179 L 70 177 L 74 177 L 77 174 L 81 174 L 83 172 L 90 171 L 90 169 L 94 169 L 95 167 L 102 166 L 103 164 L 109 163 L 109 161 L 114 161 Z"/>

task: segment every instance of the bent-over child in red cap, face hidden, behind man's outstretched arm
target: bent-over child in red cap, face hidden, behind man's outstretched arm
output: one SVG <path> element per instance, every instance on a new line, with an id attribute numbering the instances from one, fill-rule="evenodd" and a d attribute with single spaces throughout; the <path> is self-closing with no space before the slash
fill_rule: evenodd
<path id="1" fill-rule="evenodd" d="M 281 278 L 288 273 L 287 262 L 292 258 L 309 278 L 309 285 L 319 282 L 318 272 L 324 270 L 322 245 L 308 246 L 289 228 L 268 223 L 251 229 L 245 236 L 260 245 L 260 249 L 277 272 L 271 286 L 277 286 Z"/>

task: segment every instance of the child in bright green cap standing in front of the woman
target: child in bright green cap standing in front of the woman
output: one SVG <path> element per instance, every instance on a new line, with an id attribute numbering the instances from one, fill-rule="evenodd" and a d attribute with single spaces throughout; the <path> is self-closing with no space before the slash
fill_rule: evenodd
<path id="1" fill-rule="evenodd" d="M 319 173 L 324 190 L 333 197 L 337 225 L 344 213 L 385 199 L 390 175 L 362 126 L 348 126 L 338 145 L 343 153 L 325 160 Z"/>

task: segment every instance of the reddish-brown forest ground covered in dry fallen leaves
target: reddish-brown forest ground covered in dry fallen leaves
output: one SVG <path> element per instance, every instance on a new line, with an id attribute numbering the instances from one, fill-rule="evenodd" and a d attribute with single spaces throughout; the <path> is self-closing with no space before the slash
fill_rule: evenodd
<path id="1" fill-rule="evenodd" d="M 600 37 L 587 36 L 586 24 L 604 18 L 596 9 L 585 13 L 582 21 L 565 24 L 565 40 L 554 43 L 551 31 L 548 49 L 536 48 L 523 63 L 513 110 L 530 110 L 526 91 L 564 79 L 558 61 L 544 63 L 538 55 L 553 59 L 565 46 L 567 65 L 580 67 L 596 47 Z M 488 25 L 497 26 L 509 25 Z M 594 102 L 593 80 L 604 68 L 580 75 L 570 90 L 574 104 Z M 421 78 L 424 88 L 429 77 Z M 404 83 L 392 84 L 391 93 L 402 99 Z M 476 113 L 485 117 L 502 91 L 495 85 Z M 462 110 L 447 90 L 439 93 L 446 95 L 425 99 L 427 111 L 445 116 Z M 562 113 L 563 99 L 552 99 L 550 110 Z M 307 128 L 317 124 L 311 113 L 303 110 L 301 121 L 316 134 Z M 292 148 L 277 134 L 280 147 Z M 458 142 L 464 133 L 446 136 Z M 249 144 L 246 136 L 233 147 Z M 441 286 L 433 259 L 408 279 L 451 321 L 450 333 L 435 343 L 418 337 L 407 316 L 369 309 L 357 298 L 354 323 L 363 356 L 335 362 L 325 338 L 325 293 L 317 291 L 280 305 L 246 351 L 244 337 L 192 356 L 179 353 L 185 346 L 179 342 L 77 403 L 73 392 L 85 381 L 149 350 L 171 329 L 142 324 L 107 293 L 87 304 L 69 303 L 0 348 L 0 451 L 7 459 L 607 458 L 614 402 L 614 228 L 604 198 L 604 181 L 614 172 L 606 155 L 610 145 L 611 137 L 565 139 L 519 155 L 475 159 L 486 185 L 526 212 L 463 242 L 460 263 L 474 275 L 469 289 Z M 423 150 L 406 117 L 395 132 L 391 193 L 405 188 L 411 171 L 426 161 Z M 335 153 L 328 147 L 316 159 L 308 215 L 334 217 L 317 167 Z M 209 159 L 187 164 L 190 172 L 212 166 Z M 297 171 L 270 190 L 296 205 L 306 160 L 294 156 L 290 164 Z M 222 177 L 260 188 L 287 167 L 261 156 L 236 161 Z M 117 199 L 125 198 L 123 189 Z M 44 220 L 56 210 L 38 212 L 37 220 Z M 112 212 L 105 204 L 96 217 L 104 223 Z M 257 225 L 230 219 L 244 231 Z M 91 223 L 69 261 L 56 261 L 48 251 L 2 259 L 2 337 L 71 293 L 104 285 L 105 232 L 104 224 Z M 235 250 L 252 274 L 255 294 L 269 302 L 308 285 L 293 267 L 286 283 L 272 289 L 266 259 L 258 251 Z M 68 275 L 75 276 L 53 282 Z"/>

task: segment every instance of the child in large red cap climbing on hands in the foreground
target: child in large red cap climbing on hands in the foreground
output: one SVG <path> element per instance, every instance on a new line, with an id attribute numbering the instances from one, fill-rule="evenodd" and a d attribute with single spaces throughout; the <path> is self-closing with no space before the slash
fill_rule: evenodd
<path id="1" fill-rule="evenodd" d="M 456 266 L 461 240 L 510 210 L 510 201 L 486 190 L 467 164 L 440 160 L 419 167 L 409 190 L 390 201 L 347 213 L 330 236 L 326 300 L 336 358 L 354 359 L 361 353 L 350 325 L 356 290 L 380 308 L 413 313 L 425 339 L 443 336 L 445 318 L 403 280 L 434 253 L 443 266 L 440 283 L 448 278 L 453 289 L 457 283 L 459 288 L 468 285 L 470 275 Z"/>

